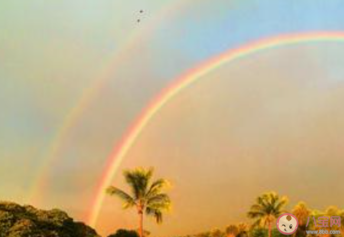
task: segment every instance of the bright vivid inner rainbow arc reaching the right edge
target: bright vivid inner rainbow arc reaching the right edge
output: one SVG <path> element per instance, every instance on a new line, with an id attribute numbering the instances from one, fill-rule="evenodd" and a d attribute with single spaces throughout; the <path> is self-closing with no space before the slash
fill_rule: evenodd
<path id="1" fill-rule="evenodd" d="M 277 48 L 281 46 L 294 45 L 299 43 L 311 42 L 341 42 L 344 43 L 344 31 L 317 31 L 305 33 L 291 33 L 279 35 L 276 37 L 254 41 L 234 49 L 227 50 L 209 60 L 200 63 L 194 69 L 186 72 L 166 88 L 164 88 L 151 103 L 141 112 L 140 116 L 132 123 L 121 141 L 115 146 L 115 149 L 108 158 L 108 165 L 101 177 L 98 191 L 96 193 L 93 206 L 88 217 L 88 223 L 95 226 L 102 202 L 105 198 L 105 189 L 111 185 L 114 174 L 118 170 L 121 161 L 132 147 L 137 137 L 140 136 L 149 121 L 159 110 L 168 103 L 170 99 L 176 96 L 180 91 L 187 88 L 202 76 L 212 72 L 225 63 L 244 58 L 250 54 L 258 53 L 262 50 Z"/>

